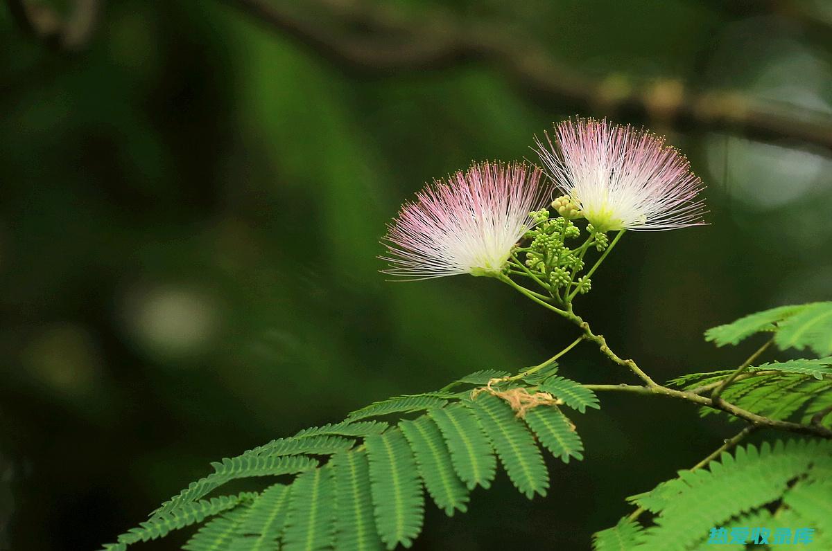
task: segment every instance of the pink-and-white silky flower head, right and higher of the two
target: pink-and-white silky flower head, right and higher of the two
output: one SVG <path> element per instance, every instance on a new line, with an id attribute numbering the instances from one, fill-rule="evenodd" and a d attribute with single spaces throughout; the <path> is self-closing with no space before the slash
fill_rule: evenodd
<path id="1" fill-rule="evenodd" d="M 661 230 L 704 224 L 704 188 L 684 155 L 665 140 L 606 120 L 577 119 L 555 126 L 554 143 L 537 153 L 555 184 L 592 225 Z"/>

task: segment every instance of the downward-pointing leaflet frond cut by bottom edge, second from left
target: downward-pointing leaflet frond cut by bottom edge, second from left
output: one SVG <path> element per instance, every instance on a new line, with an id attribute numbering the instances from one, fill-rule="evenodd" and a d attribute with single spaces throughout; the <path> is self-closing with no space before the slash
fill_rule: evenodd
<path id="1" fill-rule="evenodd" d="M 291 486 L 271 485 L 251 504 L 245 522 L 240 525 L 240 534 L 245 534 L 245 541 L 236 542 L 235 546 L 245 547 L 251 551 L 276 549 L 280 535 L 289 513 Z"/>

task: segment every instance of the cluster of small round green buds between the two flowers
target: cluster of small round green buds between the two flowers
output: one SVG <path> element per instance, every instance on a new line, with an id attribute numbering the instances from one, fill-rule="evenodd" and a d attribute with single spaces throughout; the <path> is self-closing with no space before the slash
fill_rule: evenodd
<path id="1" fill-rule="evenodd" d="M 552 210 L 554 213 L 541 209 L 529 214 L 534 226 L 513 248 L 516 262 L 509 263 L 507 271 L 536 280 L 557 302 L 567 303 L 574 294 L 592 289 L 590 278 L 580 276 L 586 265 L 584 257 L 589 248 L 606 249 L 609 239 L 587 224 L 587 238 L 577 242 L 582 230 L 572 220 L 583 216 L 568 197 L 553 200 Z"/>

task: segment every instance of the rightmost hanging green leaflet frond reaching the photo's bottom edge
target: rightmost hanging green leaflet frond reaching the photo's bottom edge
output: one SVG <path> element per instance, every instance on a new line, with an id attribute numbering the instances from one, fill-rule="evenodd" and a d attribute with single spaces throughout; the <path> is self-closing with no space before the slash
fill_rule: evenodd
<path id="1" fill-rule="evenodd" d="M 387 549 L 410 547 L 422 531 L 424 495 L 413 452 L 401 430 L 364 440 L 375 522 Z"/>

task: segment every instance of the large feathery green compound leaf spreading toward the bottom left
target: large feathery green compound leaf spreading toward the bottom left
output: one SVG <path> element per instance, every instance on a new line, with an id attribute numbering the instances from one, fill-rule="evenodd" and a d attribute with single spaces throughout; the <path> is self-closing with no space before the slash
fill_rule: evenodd
<path id="1" fill-rule="evenodd" d="M 465 512 L 470 491 L 491 485 L 498 459 L 522 494 L 545 494 L 549 475 L 538 443 L 567 462 L 582 459 L 581 439 L 557 406 L 542 403 L 521 417 L 500 396 L 522 386 L 532 395 L 548 392 L 577 411 L 598 407 L 592 392 L 554 373 L 554 367 L 540 370 L 532 384 L 497 381 L 508 377 L 505 371 L 478 371 L 442 391 L 379 401 L 345 421 L 272 440 L 212 464 L 212 474 L 105 549 L 123 551 L 200 524 L 184 549 L 409 547 L 423 526 L 425 490 L 446 514 Z M 409 418 L 395 424 L 369 420 L 393 415 Z M 264 480 L 264 490 L 210 497 L 252 477 Z"/>

